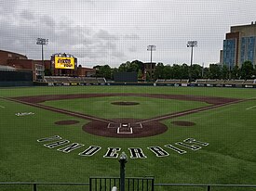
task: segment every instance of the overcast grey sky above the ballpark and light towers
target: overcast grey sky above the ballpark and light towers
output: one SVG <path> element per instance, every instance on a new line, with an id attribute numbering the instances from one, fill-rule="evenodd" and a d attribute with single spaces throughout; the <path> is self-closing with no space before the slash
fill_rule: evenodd
<path id="1" fill-rule="evenodd" d="M 135 59 L 190 63 L 220 60 L 230 26 L 256 21 L 255 0 L 0 0 L 0 49 L 41 59 L 36 38 L 47 38 L 45 59 L 69 53 L 85 67 L 118 67 Z"/>

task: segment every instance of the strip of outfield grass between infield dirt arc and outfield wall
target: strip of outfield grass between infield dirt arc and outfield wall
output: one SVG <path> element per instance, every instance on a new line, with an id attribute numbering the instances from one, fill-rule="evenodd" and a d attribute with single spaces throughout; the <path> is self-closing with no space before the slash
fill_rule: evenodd
<path id="1" fill-rule="evenodd" d="M 38 96 L 90 93 L 150 93 L 170 95 L 222 96 L 234 98 L 255 97 L 255 89 L 229 87 L 148 87 L 148 86 L 59 86 L 1 88 L 0 96 Z"/>

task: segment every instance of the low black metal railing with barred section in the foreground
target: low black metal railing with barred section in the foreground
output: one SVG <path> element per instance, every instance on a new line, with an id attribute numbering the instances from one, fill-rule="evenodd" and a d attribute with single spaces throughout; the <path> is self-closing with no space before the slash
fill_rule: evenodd
<path id="1" fill-rule="evenodd" d="M 143 180 L 143 184 L 141 185 L 141 182 Z M 119 187 L 119 178 L 90 178 L 91 184 L 90 183 L 25 183 L 25 182 L 12 182 L 12 183 L 0 183 L 0 190 L 3 185 L 10 185 L 10 186 L 15 186 L 13 190 L 19 189 L 20 185 L 28 185 L 30 186 L 29 190 L 32 191 L 43 191 L 45 189 L 39 189 L 40 185 L 72 185 L 72 186 L 83 186 L 85 188 L 84 190 L 89 190 L 89 191 L 111 191 L 111 188 L 113 185 Z M 95 182 L 96 181 L 96 186 L 95 187 Z M 139 182 L 138 182 L 139 181 Z M 148 182 L 147 182 L 148 181 Z M 146 183 L 147 182 L 147 183 Z M 139 183 L 139 185 L 138 185 Z M 148 184 L 148 185 L 147 185 Z M 151 185 L 152 184 L 152 185 Z M 105 186 L 106 185 L 106 186 Z M 143 186 L 143 188 L 142 188 Z M 168 190 L 172 190 L 173 187 L 201 187 L 205 188 L 207 191 L 215 190 L 213 188 L 226 188 L 226 190 L 231 190 L 232 188 L 253 188 L 253 190 L 256 190 L 256 185 L 199 185 L 199 184 L 164 184 L 164 183 L 154 183 L 154 179 L 152 178 L 126 178 L 126 191 L 132 190 L 132 191 L 142 191 L 142 190 L 147 190 L 147 191 L 157 191 L 157 188 L 160 187 L 165 187 Z M 243 190 L 245 190 L 243 189 Z M 74 189 L 75 190 L 75 189 Z M 119 189 L 118 189 L 119 190 Z"/>

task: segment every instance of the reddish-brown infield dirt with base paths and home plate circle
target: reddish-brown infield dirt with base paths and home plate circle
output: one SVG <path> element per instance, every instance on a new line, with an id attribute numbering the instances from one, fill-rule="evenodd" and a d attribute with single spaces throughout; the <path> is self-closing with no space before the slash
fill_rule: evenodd
<path id="1" fill-rule="evenodd" d="M 40 103 L 45 101 L 62 100 L 62 99 L 75 99 L 75 98 L 91 98 L 91 97 L 106 97 L 106 96 L 144 96 L 151 98 L 162 98 L 162 99 L 178 99 L 178 100 L 188 100 L 188 101 L 199 101 L 210 104 L 210 106 L 202 108 L 193 108 L 184 110 L 181 112 L 169 113 L 163 116 L 157 116 L 152 119 L 101 119 L 94 116 L 89 116 L 86 114 L 69 111 L 61 108 L 52 108 L 44 106 Z M 138 138 L 145 136 L 153 136 L 156 134 L 163 134 L 168 130 L 168 127 L 161 123 L 160 121 L 181 117 L 184 115 L 192 114 L 195 112 L 200 112 L 203 110 L 208 110 L 211 108 L 219 108 L 229 104 L 237 103 L 243 101 L 242 99 L 236 98 L 225 98 L 225 97 L 213 97 L 213 96 L 187 96 L 187 95 L 160 95 L 160 94 L 76 94 L 76 95 L 49 95 L 49 96 L 19 96 L 7 98 L 8 100 L 20 102 L 22 104 L 34 106 L 37 108 L 44 108 L 51 111 L 67 114 L 70 116 L 87 119 L 90 122 L 83 125 L 82 129 L 88 134 L 95 134 L 107 137 L 120 137 L 120 138 Z M 118 103 L 125 106 L 124 103 Z M 137 104 L 137 103 L 136 103 Z M 74 121 L 72 121 L 74 122 Z M 65 121 L 56 121 L 57 124 L 65 124 Z M 70 124 L 71 121 L 67 121 L 66 124 Z M 112 128 L 110 127 L 112 125 Z M 176 122 L 177 125 L 190 126 L 192 123 L 186 122 Z"/>

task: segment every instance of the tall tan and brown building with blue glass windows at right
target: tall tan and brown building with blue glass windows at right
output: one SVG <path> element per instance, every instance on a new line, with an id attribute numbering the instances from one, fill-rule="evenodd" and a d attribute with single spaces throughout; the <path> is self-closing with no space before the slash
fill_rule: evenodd
<path id="1" fill-rule="evenodd" d="M 229 69 L 241 67 L 245 61 L 256 66 L 256 21 L 249 25 L 232 26 L 226 33 L 220 63 Z"/>

